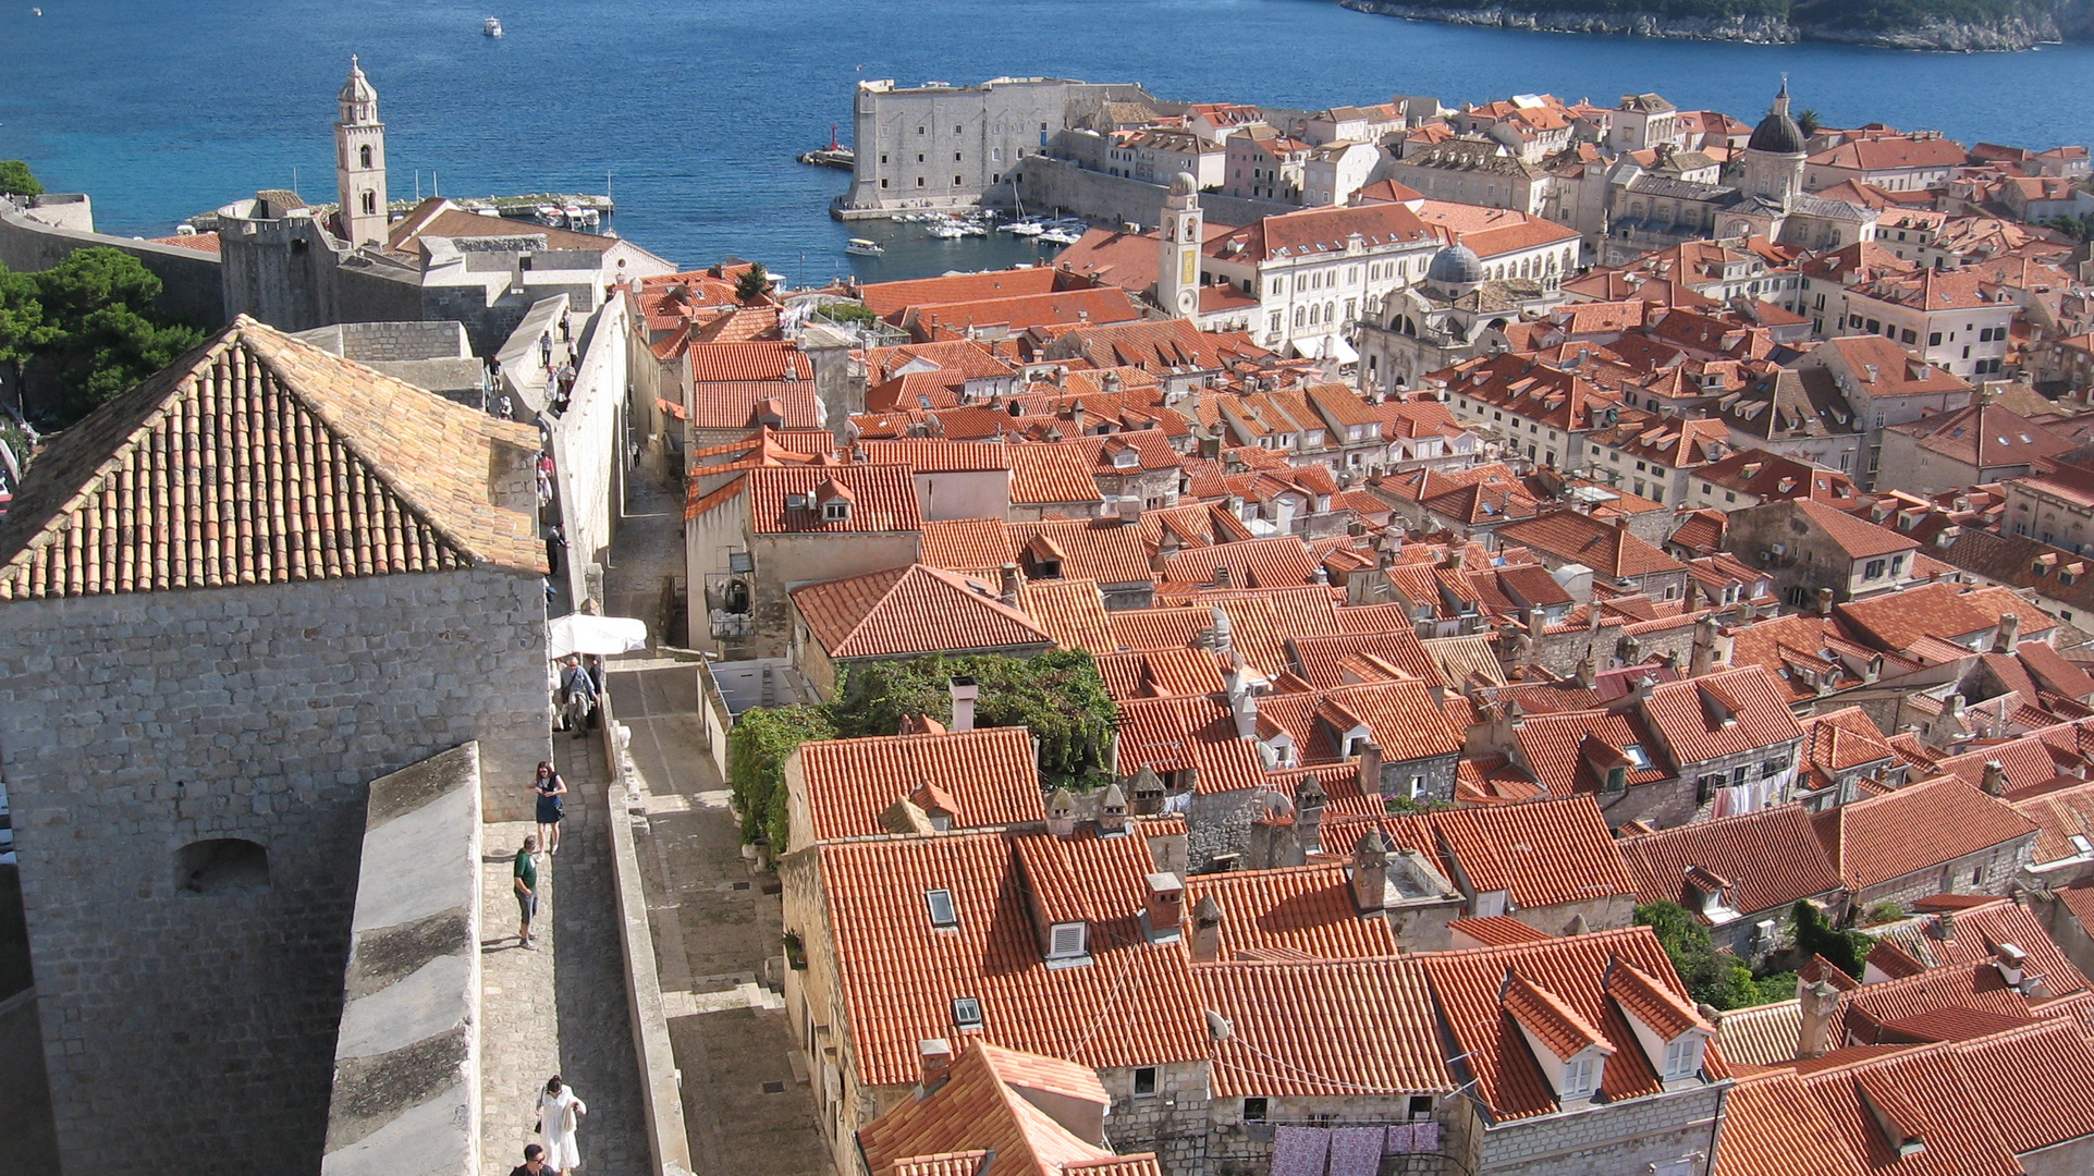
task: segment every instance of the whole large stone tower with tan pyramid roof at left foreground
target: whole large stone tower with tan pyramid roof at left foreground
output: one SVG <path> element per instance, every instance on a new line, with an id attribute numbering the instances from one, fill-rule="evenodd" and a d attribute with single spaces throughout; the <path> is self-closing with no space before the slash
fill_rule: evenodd
<path id="1" fill-rule="evenodd" d="M 0 521 L 0 772 L 61 1157 L 316 1172 L 366 791 L 549 753 L 538 433 L 249 318 Z M 0 1161 L 4 1166 L 4 1161 Z"/>

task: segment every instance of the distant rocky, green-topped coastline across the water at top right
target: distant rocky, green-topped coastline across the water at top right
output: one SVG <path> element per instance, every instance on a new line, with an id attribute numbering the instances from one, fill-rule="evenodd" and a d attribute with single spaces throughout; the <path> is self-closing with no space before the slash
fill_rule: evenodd
<path id="1" fill-rule="evenodd" d="M 1912 48 L 1939 52 L 2025 50 L 2046 42 L 2088 40 L 2094 36 L 2094 0 L 2065 4 L 2021 4 L 2014 15 L 1985 21 L 1920 19 L 1899 27 L 1870 29 L 1799 19 L 1797 13 L 1677 17 L 1665 13 L 1594 13 L 1575 6 L 1436 6 L 1397 0 L 1338 0 L 1359 13 L 1403 17 L 1407 21 L 1441 21 L 1449 25 L 1487 25 L 1543 33 L 1608 33 L 1665 40 L 1711 40 L 1746 44 L 1792 44 L 1799 40 L 1843 42 L 1880 48 Z M 1577 0 L 1566 0 L 1575 4 Z"/>

